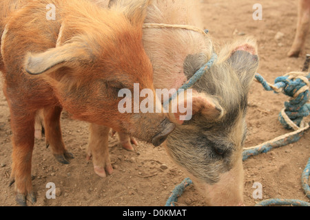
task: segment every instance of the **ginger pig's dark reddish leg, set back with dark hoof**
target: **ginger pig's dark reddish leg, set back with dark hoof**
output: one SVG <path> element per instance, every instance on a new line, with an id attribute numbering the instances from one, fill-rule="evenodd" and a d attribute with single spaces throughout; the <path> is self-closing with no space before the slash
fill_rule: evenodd
<path id="1" fill-rule="evenodd" d="M 70 164 L 69 159 L 74 158 L 72 153 L 69 153 L 63 137 L 61 135 L 60 117 L 61 107 L 49 107 L 44 109 L 44 124 L 45 124 L 45 141 L 46 146 L 52 149 L 52 154 L 61 164 Z"/>

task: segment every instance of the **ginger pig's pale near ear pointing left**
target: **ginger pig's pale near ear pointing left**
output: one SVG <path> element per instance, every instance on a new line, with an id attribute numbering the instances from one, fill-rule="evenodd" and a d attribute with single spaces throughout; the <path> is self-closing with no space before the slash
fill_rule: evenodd
<path id="1" fill-rule="evenodd" d="M 40 54 L 29 53 L 25 57 L 25 71 L 31 75 L 38 75 L 50 72 L 55 68 L 72 67 L 74 64 L 80 63 L 81 60 L 90 57 L 85 48 L 81 43 L 74 42 L 52 48 Z"/>

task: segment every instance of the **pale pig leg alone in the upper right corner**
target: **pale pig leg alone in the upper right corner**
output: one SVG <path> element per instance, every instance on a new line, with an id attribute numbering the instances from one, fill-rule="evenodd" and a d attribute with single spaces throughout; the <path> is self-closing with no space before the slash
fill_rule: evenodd
<path id="1" fill-rule="evenodd" d="M 298 57 L 304 48 L 310 26 L 310 0 L 299 0 L 298 22 L 296 36 L 287 54 L 289 57 Z"/>

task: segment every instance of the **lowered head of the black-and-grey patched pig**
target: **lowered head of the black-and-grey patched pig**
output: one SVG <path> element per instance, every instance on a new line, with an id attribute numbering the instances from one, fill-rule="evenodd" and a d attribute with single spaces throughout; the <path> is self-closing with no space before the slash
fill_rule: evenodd
<path id="1" fill-rule="evenodd" d="M 203 55 L 185 59 L 187 76 L 207 62 L 206 57 L 203 61 L 198 56 Z M 187 101 L 192 105 L 192 119 L 180 121 L 179 113 L 174 114 L 180 125 L 165 142 L 167 152 L 196 180 L 194 183 L 204 190 L 212 206 L 238 206 L 243 202 L 247 94 L 257 67 L 254 43 L 231 45 L 220 52 L 219 62 L 192 87 L 192 100 Z"/>

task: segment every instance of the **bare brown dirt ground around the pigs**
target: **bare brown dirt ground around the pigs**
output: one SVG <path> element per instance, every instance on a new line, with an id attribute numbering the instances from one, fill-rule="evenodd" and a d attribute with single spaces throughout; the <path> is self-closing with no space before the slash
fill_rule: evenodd
<path id="1" fill-rule="evenodd" d="M 205 28 L 218 47 L 231 41 L 234 34 L 249 34 L 258 41 L 260 67 L 258 72 L 270 83 L 287 72 L 299 71 L 304 56 L 287 58 L 296 30 L 297 1 L 260 0 L 262 21 L 254 21 L 252 9 L 258 1 L 205 0 L 203 19 Z M 275 40 L 277 32 L 283 36 Z M 306 52 L 310 52 L 310 38 Z M 0 87 L 2 85 L 0 84 Z M 0 88 L 1 89 L 1 88 Z M 287 97 L 265 91 L 254 83 L 249 96 L 247 124 L 249 135 L 246 147 L 256 146 L 278 135 L 288 133 L 278 122 L 278 113 Z M 307 118 L 309 121 L 310 118 Z M 135 152 L 121 148 L 116 137 L 110 138 L 110 154 L 114 173 L 105 179 L 94 174 L 92 162 L 87 162 L 85 149 L 88 124 L 62 115 L 63 139 L 75 159 L 71 164 L 56 162 L 44 140 L 36 140 L 33 159 L 32 184 L 37 191 L 34 206 L 164 206 L 170 192 L 187 177 L 167 156 L 163 147 L 139 142 Z M 244 162 L 245 205 L 254 206 L 262 199 L 282 198 L 308 201 L 302 190 L 300 177 L 310 156 L 310 131 L 296 144 L 289 144 L 271 152 L 251 157 Z M 12 145 L 10 113 L 6 99 L 0 93 L 0 206 L 16 206 L 14 187 L 9 187 Z M 165 169 L 161 166 L 165 164 Z M 45 188 L 54 182 L 60 195 L 46 199 Z M 254 182 L 262 184 L 262 199 L 254 199 Z M 28 203 L 30 206 L 31 204 Z M 189 186 L 178 200 L 180 206 L 205 206 L 202 195 Z"/>

